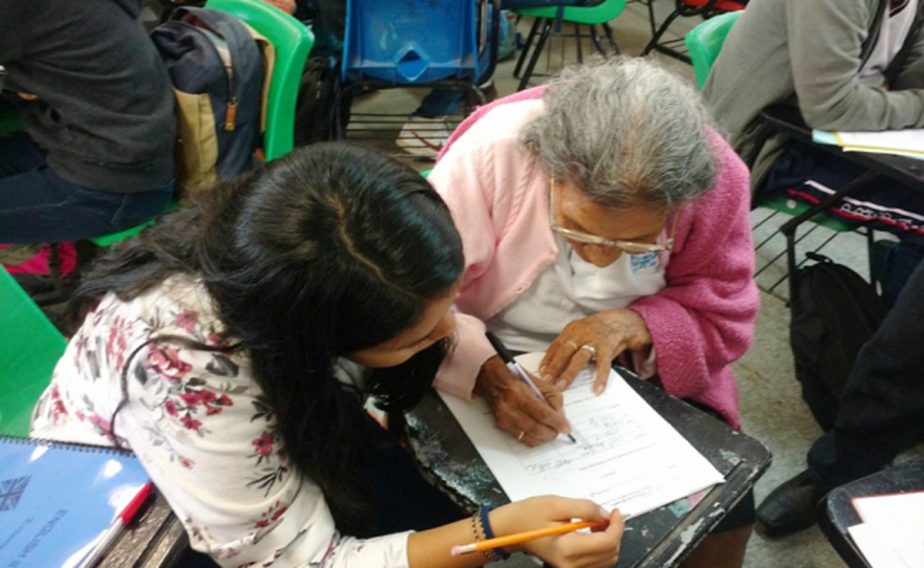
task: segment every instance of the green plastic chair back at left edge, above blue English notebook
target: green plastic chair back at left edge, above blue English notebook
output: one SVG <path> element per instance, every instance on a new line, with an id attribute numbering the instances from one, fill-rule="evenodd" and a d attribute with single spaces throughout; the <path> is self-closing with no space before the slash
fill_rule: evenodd
<path id="1" fill-rule="evenodd" d="M 32 409 L 67 341 L 0 266 L 0 434 L 29 436 Z"/>

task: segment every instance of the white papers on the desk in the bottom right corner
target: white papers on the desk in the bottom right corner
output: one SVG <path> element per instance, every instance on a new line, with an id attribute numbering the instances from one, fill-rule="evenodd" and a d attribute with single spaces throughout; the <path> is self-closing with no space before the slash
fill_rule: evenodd
<path id="1" fill-rule="evenodd" d="M 857 497 L 863 523 L 847 528 L 872 568 L 924 566 L 924 491 Z"/>

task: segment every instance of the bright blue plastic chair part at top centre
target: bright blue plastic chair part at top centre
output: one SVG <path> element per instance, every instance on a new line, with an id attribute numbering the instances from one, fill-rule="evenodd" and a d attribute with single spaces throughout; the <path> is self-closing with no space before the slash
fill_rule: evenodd
<path id="1" fill-rule="evenodd" d="M 343 79 L 478 77 L 477 8 L 475 0 L 348 0 Z"/>

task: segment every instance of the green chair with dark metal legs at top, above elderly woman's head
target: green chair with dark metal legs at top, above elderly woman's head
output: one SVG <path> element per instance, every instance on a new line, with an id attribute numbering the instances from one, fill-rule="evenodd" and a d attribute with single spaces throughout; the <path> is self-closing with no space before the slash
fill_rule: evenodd
<path id="1" fill-rule="evenodd" d="M 603 49 L 602 44 L 597 39 L 595 31 L 593 30 L 594 26 L 600 26 L 606 34 L 606 39 L 607 42 L 610 43 L 610 47 L 613 49 L 615 54 L 618 54 L 619 46 L 616 44 L 613 38 L 613 31 L 610 29 L 609 22 L 618 18 L 619 15 L 623 13 L 623 9 L 625 7 L 626 0 L 603 0 L 603 2 L 597 6 L 566 6 L 563 11 L 562 21 L 575 24 L 576 27 L 590 26 L 590 39 L 593 41 L 597 51 L 599 51 L 601 55 L 605 56 L 606 50 Z M 549 35 L 552 32 L 555 20 L 558 18 L 558 10 L 559 8 L 555 6 L 517 8 L 512 10 L 519 16 L 529 16 L 535 19 L 535 21 L 533 21 L 532 28 L 529 30 L 529 36 L 527 36 L 526 44 L 523 46 L 523 52 L 520 54 L 519 59 L 517 60 L 517 67 L 514 69 L 514 77 L 520 78 L 517 91 L 522 91 L 529 85 L 529 78 L 532 76 L 532 71 L 534 68 L 536 68 L 536 63 L 539 61 L 542 48 L 545 47 L 545 43 L 549 39 Z M 523 63 L 527 59 L 529 47 L 532 45 L 533 39 L 535 38 L 536 33 L 539 31 L 540 27 L 542 28 L 542 32 L 540 34 L 539 41 L 536 43 L 532 57 L 529 58 L 529 65 L 526 68 L 526 72 L 524 72 L 523 76 L 520 77 L 520 69 L 523 67 Z M 582 54 L 580 48 L 580 37 L 578 36 L 578 63 L 581 62 L 581 59 Z"/>

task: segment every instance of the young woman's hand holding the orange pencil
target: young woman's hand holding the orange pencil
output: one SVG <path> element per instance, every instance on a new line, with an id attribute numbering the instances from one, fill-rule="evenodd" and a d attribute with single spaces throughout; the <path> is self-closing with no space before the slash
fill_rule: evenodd
<path id="1" fill-rule="evenodd" d="M 604 568 L 619 560 L 619 546 L 626 525 L 618 511 L 606 512 L 590 500 L 534 497 L 491 512 L 495 537 L 581 521 L 608 521 L 605 529 L 591 533 L 565 533 L 530 540 L 508 552 L 525 550 L 556 568 Z"/>

